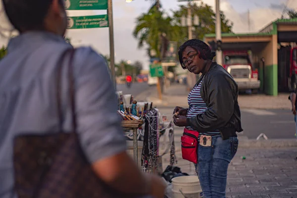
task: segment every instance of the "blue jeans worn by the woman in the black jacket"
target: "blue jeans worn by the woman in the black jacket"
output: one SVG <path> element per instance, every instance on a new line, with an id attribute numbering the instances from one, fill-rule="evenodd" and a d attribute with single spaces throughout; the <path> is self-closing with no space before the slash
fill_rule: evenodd
<path id="1" fill-rule="evenodd" d="M 223 140 L 221 136 L 212 138 L 211 147 L 198 146 L 196 172 L 204 198 L 226 198 L 228 165 L 237 148 L 237 137 Z"/>

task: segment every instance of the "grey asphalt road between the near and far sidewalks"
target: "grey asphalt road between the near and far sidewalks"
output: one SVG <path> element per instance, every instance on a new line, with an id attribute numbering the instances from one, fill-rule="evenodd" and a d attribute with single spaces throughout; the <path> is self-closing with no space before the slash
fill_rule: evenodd
<path id="1" fill-rule="evenodd" d="M 160 108 L 161 114 L 171 114 L 172 108 Z M 258 110 L 241 109 L 242 136 L 256 139 L 264 133 L 268 139 L 294 139 L 295 122 L 292 113 L 288 110 Z M 179 127 L 176 127 L 179 130 Z"/>

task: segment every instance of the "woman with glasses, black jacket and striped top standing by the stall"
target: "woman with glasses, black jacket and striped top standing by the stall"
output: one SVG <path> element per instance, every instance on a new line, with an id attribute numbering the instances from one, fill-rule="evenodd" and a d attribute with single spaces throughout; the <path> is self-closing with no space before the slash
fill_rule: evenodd
<path id="1" fill-rule="evenodd" d="M 187 134 L 198 134 L 196 171 L 204 198 L 225 198 L 228 165 L 238 148 L 236 132 L 243 131 L 238 86 L 221 65 L 212 61 L 215 51 L 204 42 L 189 40 L 178 55 L 184 69 L 202 75 L 188 96 L 189 108 L 174 109 L 174 124 L 185 127 Z"/>

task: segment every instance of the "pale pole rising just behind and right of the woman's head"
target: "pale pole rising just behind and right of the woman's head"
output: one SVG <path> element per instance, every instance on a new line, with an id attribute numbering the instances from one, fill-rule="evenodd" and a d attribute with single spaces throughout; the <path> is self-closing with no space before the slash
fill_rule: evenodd
<path id="1" fill-rule="evenodd" d="M 215 38 L 216 41 L 222 41 L 222 28 L 221 28 L 221 13 L 220 13 L 220 0 L 215 0 L 215 10 L 216 10 L 216 21 L 215 21 Z M 222 50 L 219 49 L 216 51 L 216 62 L 219 65 L 222 65 L 223 54 Z"/>

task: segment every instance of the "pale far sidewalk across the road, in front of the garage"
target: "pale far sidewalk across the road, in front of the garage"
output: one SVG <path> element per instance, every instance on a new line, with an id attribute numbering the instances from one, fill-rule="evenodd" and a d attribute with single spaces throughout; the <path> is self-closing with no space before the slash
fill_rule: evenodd
<path id="1" fill-rule="evenodd" d="M 188 92 L 185 85 L 172 84 L 165 88 L 163 99 L 158 99 L 157 88 L 151 87 L 136 97 L 137 101 L 152 101 L 157 107 L 188 106 Z M 263 94 L 240 95 L 239 105 L 241 108 L 253 109 L 291 109 L 288 100 L 289 94 L 279 94 L 277 97 L 266 96 Z"/>

